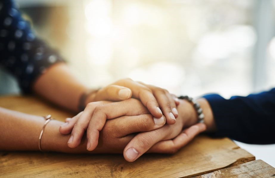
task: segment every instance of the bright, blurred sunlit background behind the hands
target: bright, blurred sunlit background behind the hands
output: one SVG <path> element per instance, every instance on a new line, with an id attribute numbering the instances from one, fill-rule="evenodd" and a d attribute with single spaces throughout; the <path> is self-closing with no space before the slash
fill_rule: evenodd
<path id="1" fill-rule="evenodd" d="M 275 86 L 273 0 L 16 2 L 90 87 L 130 77 L 178 95 L 228 98 Z M 238 144 L 275 167 L 275 145 Z"/>

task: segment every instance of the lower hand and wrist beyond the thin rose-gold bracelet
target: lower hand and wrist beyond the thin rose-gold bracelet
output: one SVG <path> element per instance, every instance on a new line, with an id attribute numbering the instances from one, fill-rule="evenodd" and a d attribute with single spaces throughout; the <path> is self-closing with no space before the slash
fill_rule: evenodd
<path id="1" fill-rule="evenodd" d="M 69 119 L 70 121 L 72 119 Z M 69 121 L 69 122 L 70 122 Z M 58 123 L 58 124 L 57 124 Z M 122 116 L 106 121 L 103 129 L 100 131 L 98 145 L 93 151 L 87 151 L 87 138 L 84 135 L 80 141 L 80 145 L 75 148 L 69 148 L 67 141 L 70 135 L 62 135 L 58 132 L 56 126 L 60 126 L 61 122 L 51 121 L 49 127 L 45 128 L 45 137 L 42 140 L 42 148 L 48 151 L 69 152 L 69 153 L 122 153 L 123 149 L 130 140 L 138 132 L 148 132 L 159 128 L 154 122 L 153 116 L 150 114 L 142 114 L 137 116 Z M 61 128 L 61 127 L 59 127 Z M 56 135 L 62 137 L 60 143 L 56 143 Z M 66 139 L 65 139 L 66 138 Z M 58 150 L 54 144 L 58 145 Z"/>

